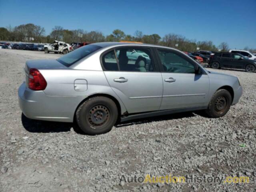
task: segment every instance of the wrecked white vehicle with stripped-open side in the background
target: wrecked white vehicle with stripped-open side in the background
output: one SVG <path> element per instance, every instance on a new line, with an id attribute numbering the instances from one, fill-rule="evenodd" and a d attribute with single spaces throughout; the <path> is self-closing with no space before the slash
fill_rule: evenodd
<path id="1" fill-rule="evenodd" d="M 54 43 L 48 45 L 44 45 L 44 52 L 49 53 L 49 52 L 54 52 L 54 53 L 62 53 L 62 54 L 67 54 L 70 52 L 70 45 L 62 42 L 62 41 L 54 41 Z"/>

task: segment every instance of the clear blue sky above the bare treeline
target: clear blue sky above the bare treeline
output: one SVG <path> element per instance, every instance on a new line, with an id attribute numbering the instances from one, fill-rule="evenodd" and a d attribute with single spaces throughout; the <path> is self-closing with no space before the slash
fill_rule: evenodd
<path id="1" fill-rule="evenodd" d="M 140 30 L 256 48 L 256 0 L 0 0 L 0 27 L 27 23 L 43 26 L 46 34 L 54 26 L 104 35 Z"/>

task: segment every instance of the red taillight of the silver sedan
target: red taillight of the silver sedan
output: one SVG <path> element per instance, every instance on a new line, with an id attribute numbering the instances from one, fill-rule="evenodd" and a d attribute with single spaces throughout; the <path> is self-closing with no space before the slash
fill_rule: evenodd
<path id="1" fill-rule="evenodd" d="M 44 76 L 35 68 L 31 68 L 29 71 L 28 88 L 32 90 L 44 90 L 47 86 L 47 82 Z"/>

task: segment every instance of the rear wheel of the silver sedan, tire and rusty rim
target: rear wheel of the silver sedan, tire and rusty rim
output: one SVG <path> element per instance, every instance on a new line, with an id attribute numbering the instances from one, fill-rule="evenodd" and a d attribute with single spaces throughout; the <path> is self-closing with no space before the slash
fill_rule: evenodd
<path id="1" fill-rule="evenodd" d="M 83 132 L 90 135 L 103 134 L 112 129 L 118 118 L 113 100 L 96 96 L 86 100 L 76 111 L 76 122 Z"/>

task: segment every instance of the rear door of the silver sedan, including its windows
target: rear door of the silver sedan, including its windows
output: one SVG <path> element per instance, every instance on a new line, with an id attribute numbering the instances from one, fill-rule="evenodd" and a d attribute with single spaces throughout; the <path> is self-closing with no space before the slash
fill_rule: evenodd
<path id="1" fill-rule="evenodd" d="M 138 55 L 129 59 L 128 54 L 133 49 L 149 58 Z M 109 50 L 102 55 L 102 67 L 108 83 L 130 114 L 160 108 L 163 83 L 152 51 L 148 47 L 129 46 Z"/>

